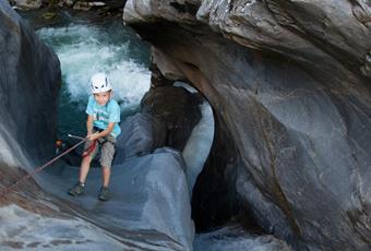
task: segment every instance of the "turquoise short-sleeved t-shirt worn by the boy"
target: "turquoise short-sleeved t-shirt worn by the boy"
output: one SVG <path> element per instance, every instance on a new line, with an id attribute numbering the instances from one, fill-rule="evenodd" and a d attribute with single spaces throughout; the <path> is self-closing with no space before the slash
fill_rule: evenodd
<path id="1" fill-rule="evenodd" d="M 89 96 L 86 113 L 94 117 L 94 127 L 105 130 L 109 122 L 116 122 L 110 134 L 117 138 L 121 133 L 121 129 L 118 124 L 118 122 L 120 122 L 120 106 L 116 100 L 109 99 L 106 105 L 99 106 L 94 99 L 94 96 Z"/>

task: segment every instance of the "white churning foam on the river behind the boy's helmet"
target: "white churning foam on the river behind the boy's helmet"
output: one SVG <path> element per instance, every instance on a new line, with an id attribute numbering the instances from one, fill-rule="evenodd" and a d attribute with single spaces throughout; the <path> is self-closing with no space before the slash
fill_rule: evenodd
<path id="1" fill-rule="evenodd" d="M 115 31 L 110 29 L 118 29 L 113 37 L 111 32 Z M 38 34 L 57 52 L 62 79 L 73 100 L 85 101 L 89 95 L 91 76 L 101 71 L 108 73 L 113 96 L 123 100 L 124 105 L 137 105 L 149 87 L 151 73 L 145 65 L 147 59 L 143 58 L 145 51 L 141 51 L 147 48 L 122 25 L 75 24 L 41 28 Z"/>

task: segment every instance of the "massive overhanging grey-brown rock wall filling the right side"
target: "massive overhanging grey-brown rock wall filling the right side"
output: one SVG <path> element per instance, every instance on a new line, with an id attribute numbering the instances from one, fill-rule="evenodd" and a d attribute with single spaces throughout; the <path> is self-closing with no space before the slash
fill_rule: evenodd
<path id="1" fill-rule="evenodd" d="M 123 19 L 214 108 L 210 226 L 244 212 L 297 249 L 370 249 L 370 3 L 130 0 Z"/>

